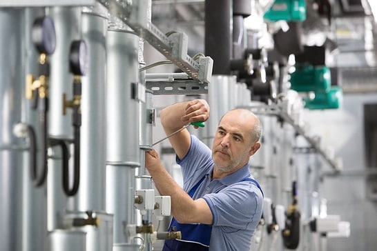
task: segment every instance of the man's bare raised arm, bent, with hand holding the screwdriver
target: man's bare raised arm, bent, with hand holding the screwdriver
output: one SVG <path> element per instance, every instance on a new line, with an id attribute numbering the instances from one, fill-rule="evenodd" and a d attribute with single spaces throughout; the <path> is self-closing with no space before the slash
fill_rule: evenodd
<path id="1" fill-rule="evenodd" d="M 191 122 L 206 121 L 209 105 L 204 99 L 184 101 L 167 106 L 160 112 L 162 127 L 170 135 Z M 190 133 L 184 129 L 169 138 L 177 157 L 182 159 L 190 148 Z"/>

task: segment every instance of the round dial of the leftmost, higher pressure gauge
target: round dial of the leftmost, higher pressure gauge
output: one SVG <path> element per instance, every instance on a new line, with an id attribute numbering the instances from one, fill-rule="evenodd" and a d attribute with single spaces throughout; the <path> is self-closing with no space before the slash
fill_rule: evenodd
<path id="1" fill-rule="evenodd" d="M 50 17 L 39 17 L 34 21 L 32 42 L 39 53 L 52 54 L 55 51 L 57 38 L 54 21 Z"/>

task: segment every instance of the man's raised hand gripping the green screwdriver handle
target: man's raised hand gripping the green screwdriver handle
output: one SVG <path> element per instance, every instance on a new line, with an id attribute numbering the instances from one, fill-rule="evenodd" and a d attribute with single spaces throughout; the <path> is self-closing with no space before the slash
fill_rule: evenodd
<path id="1" fill-rule="evenodd" d="M 208 118 L 209 104 L 207 101 L 204 99 L 195 99 L 187 102 L 184 116 L 182 116 L 181 120 L 187 124 L 197 121 L 206 121 Z M 194 127 L 198 128 L 197 125 L 194 125 Z"/>

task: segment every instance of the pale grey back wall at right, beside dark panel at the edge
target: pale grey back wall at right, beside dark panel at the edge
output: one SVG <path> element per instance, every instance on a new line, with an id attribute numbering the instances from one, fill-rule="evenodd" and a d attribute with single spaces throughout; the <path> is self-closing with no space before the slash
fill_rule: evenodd
<path id="1" fill-rule="evenodd" d="M 377 94 L 347 94 L 339 110 L 305 114 L 311 130 L 320 133 L 322 143 L 334 146 L 343 163 L 340 175 L 323 177 L 320 194 L 327 199 L 328 214 L 339 214 L 342 221 L 350 222 L 351 234 L 348 239 L 328 239 L 327 250 L 376 250 L 377 201 L 368 199 L 365 182 L 365 103 L 377 103 Z"/>

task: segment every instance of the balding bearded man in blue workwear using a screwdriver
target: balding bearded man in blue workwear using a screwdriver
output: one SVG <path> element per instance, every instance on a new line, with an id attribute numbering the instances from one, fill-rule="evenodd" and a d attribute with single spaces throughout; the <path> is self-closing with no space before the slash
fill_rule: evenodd
<path id="1" fill-rule="evenodd" d="M 209 118 L 203 99 L 175 103 L 161 110 L 167 135 Z M 171 197 L 171 228 L 180 240 L 166 240 L 168 250 L 249 251 L 262 217 L 262 190 L 249 171 L 249 157 L 260 148 L 261 123 L 249 110 L 226 112 L 218 124 L 212 151 L 184 129 L 169 141 L 182 167 L 184 189 L 165 170 L 160 157 L 146 152 L 146 168 L 162 195 Z"/>

